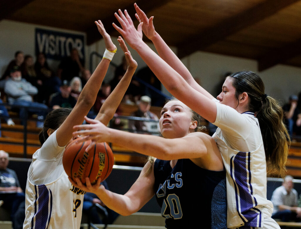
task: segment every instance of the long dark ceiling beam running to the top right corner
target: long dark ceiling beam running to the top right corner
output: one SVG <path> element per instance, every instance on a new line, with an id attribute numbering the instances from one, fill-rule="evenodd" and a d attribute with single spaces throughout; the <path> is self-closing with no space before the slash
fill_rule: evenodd
<path id="1" fill-rule="evenodd" d="M 299 0 L 266 0 L 258 5 L 242 12 L 221 23 L 201 31 L 199 34 L 190 38 L 185 38 L 185 41 L 177 45 L 178 57 L 183 58 L 198 50 L 214 44 L 231 34 L 234 34 L 247 26 L 251 26 L 266 17 L 269 17 L 281 9 L 298 2 Z"/>

